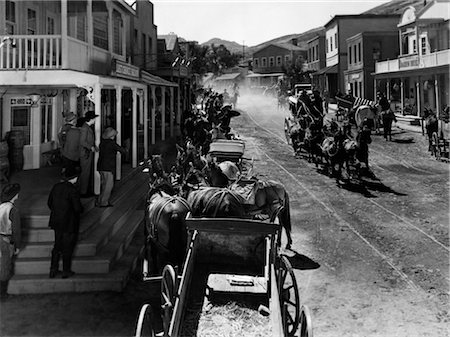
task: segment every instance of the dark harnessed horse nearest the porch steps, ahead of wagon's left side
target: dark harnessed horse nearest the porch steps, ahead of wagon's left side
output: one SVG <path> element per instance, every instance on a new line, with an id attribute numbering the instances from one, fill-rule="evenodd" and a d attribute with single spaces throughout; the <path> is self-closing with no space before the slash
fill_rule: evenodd
<path id="1" fill-rule="evenodd" d="M 144 277 L 160 274 L 166 264 L 182 268 L 187 249 L 185 218 L 190 210 L 166 179 L 156 177 L 150 184 L 144 215 Z"/>

